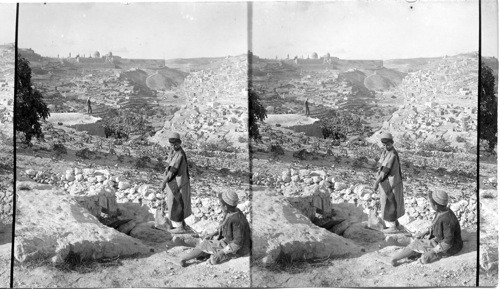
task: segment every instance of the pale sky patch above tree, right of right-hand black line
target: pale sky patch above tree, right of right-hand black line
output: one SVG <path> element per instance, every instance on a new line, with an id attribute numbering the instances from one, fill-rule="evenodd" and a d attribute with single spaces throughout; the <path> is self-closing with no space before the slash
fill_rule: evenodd
<path id="1" fill-rule="evenodd" d="M 498 2 L 481 1 L 481 54 L 498 58 Z"/>

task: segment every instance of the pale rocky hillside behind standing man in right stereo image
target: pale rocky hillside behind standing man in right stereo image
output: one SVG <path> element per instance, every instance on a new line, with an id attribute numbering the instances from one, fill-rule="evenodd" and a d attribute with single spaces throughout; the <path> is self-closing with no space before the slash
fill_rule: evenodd
<path id="1" fill-rule="evenodd" d="M 477 56 L 465 54 L 409 73 L 394 91 L 404 97 L 404 105 L 381 131 L 390 131 L 400 143 L 431 150 L 471 150 L 476 146 L 477 63 Z M 377 136 L 370 140 L 378 141 Z"/>

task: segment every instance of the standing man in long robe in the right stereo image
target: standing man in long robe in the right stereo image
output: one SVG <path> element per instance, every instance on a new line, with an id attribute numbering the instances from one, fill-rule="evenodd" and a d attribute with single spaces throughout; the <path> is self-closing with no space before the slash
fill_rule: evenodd
<path id="1" fill-rule="evenodd" d="M 401 165 L 392 135 L 382 133 L 380 139 L 385 149 L 380 156 L 380 168 L 373 190 L 379 191 L 381 217 L 388 227 L 383 232 L 397 233 L 398 219 L 405 214 Z"/>

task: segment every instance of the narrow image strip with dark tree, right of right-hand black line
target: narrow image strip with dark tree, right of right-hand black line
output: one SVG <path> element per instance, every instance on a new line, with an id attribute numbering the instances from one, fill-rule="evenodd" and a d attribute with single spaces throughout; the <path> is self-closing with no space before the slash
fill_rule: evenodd
<path id="1" fill-rule="evenodd" d="M 498 286 L 498 2 L 481 2 L 479 286 Z"/>

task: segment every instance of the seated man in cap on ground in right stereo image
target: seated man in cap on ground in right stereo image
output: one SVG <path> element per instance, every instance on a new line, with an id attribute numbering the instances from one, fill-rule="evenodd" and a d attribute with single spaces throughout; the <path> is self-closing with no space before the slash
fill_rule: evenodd
<path id="1" fill-rule="evenodd" d="M 426 264 L 462 250 L 460 223 L 453 211 L 447 207 L 448 194 L 445 192 L 429 193 L 429 202 L 436 212 L 431 227 L 426 232 L 418 234 L 410 245 L 392 258 L 393 266 L 396 266 L 399 260 L 416 253 L 422 254 L 420 262 Z M 424 238 L 425 236 L 427 238 Z"/>

